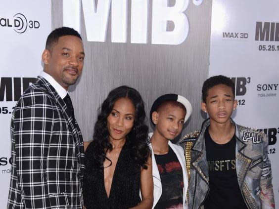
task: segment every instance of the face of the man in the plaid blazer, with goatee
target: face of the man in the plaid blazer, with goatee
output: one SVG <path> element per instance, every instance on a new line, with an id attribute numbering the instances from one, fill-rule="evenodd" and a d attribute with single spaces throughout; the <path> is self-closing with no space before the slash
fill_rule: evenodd
<path id="1" fill-rule="evenodd" d="M 76 36 L 62 36 L 52 44 L 50 50 L 44 50 L 44 71 L 67 90 L 80 77 L 84 56 L 81 39 Z"/>

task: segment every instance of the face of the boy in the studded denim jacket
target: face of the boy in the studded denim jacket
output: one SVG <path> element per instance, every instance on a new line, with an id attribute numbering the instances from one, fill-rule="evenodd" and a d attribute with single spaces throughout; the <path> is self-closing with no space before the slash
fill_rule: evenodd
<path id="1" fill-rule="evenodd" d="M 206 101 L 201 103 L 201 109 L 206 111 L 211 121 L 224 124 L 231 118 L 237 100 L 233 100 L 230 86 L 218 84 L 208 90 Z"/>

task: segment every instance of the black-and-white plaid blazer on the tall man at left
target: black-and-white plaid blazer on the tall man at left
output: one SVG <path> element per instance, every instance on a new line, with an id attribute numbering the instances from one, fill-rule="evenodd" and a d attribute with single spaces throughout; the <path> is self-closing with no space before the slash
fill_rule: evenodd
<path id="1" fill-rule="evenodd" d="M 21 95 L 11 119 L 8 209 L 83 208 L 83 138 L 66 109 L 40 76 Z"/>

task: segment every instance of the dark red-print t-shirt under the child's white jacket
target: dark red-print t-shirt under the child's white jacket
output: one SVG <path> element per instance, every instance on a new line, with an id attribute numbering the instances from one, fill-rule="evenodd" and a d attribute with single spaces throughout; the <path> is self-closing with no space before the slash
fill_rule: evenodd
<path id="1" fill-rule="evenodd" d="M 183 170 L 169 146 L 165 155 L 155 155 L 162 183 L 162 195 L 154 209 L 183 209 Z"/>

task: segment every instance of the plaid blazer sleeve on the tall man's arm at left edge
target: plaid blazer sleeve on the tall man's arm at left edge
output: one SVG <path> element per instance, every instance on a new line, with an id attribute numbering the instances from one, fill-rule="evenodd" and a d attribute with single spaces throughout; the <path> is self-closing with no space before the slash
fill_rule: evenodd
<path id="1" fill-rule="evenodd" d="M 53 126 L 52 101 L 45 92 L 31 89 L 14 110 L 15 164 L 25 208 L 50 208 L 46 169 Z"/>

